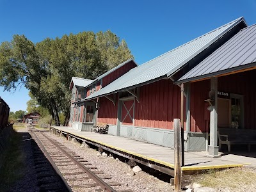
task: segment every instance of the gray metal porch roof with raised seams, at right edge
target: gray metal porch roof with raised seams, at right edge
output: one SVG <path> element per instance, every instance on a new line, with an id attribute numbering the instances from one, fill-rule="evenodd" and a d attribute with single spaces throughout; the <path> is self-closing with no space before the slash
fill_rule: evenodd
<path id="1" fill-rule="evenodd" d="M 177 83 L 224 74 L 256 65 L 256 24 L 241 29 L 204 61 L 196 65 Z M 248 65 L 251 64 L 251 65 Z"/>

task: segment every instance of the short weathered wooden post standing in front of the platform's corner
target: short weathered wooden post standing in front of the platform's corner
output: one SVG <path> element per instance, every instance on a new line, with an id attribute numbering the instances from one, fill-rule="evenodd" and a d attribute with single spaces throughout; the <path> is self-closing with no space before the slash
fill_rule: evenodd
<path id="1" fill-rule="evenodd" d="M 180 120 L 175 118 L 173 121 L 174 130 L 174 189 L 175 192 L 181 190 L 181 166 L 180 166 Z"/>

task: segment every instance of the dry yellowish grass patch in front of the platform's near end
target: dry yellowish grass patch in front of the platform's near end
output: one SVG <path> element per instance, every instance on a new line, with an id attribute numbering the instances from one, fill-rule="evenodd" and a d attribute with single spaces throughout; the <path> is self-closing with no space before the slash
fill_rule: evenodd
<path id="1" fill-rule="evenodd" d="M 202 186 L 207 186 L 214 189 L 227 189 L 234 191 L 239 190 L 241 186 L 254 186 L 256 180 L 255 170 L 248 168 L 230 168 L 227 170 L 211 170 L 208 173 L 204 174 L 200 179 L 194 180 Z"/>

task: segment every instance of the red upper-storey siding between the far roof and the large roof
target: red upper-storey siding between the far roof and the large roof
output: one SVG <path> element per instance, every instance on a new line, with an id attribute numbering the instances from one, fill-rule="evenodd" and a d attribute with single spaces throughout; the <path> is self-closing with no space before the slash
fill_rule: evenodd
<path id="1" fill-rule="evenodd" d="M 108 74 L 108 76 L 103 77 L 102 79 L 102 88 L 104 86 L 107 86 L 109 83 L 115 81 L 118 77 L 121 77 L 125 73 L 127 73 L 131 68 L 136 67 L 135 63 L 133 61 L 130 61 L 123 65 L 122 67 L 116 69 L 115 71 L 111 72 L 111 74 Z"/>

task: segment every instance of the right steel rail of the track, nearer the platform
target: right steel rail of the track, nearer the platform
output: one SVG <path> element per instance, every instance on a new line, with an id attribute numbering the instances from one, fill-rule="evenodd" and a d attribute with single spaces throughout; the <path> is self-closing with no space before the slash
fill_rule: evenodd
<path id="1" fill-rule="evenodd" d="M 44 133 L 41 132 L 42 135 L 45 136 Z M 45 136 L 45 138 L 47 138 L 47 140 L 49 140 L 53 145 L 55 145 L 59 150 L 61 150 L 61 152 L 63 152 L 63 154 L 65 154 L 66 156 L 68 156 L 70 159 L 72 159 L 72 161 L 79 166 L 79 168 L 81 168 L 81 170 L 83 170 L 84 172 L 86 172 L 86 174 L 88 175 L 88 177 L 90 177 L 91 179 L 93 179 L 101 188 L 103 188 L 104 190 L 108 191 L 108 192 L 116 192 L 115 189 L 111 188 L 111 186 L 109 186 L 106 182 L 104 182 L 102 179 L 100 179 L 100 177 L 98 177 L 95 173 L 93 173 L 90 169 L 86 168 L 83 164 L 81 164 L 79 161 L 77 161 L 76 158 L 74 158 L 73 156 L 71 156 L 70 154 L 68 154 L 68 152 L 66 152 L 63 148 L 60 147 L 60 145 L 58 145 L 58 143 L 52 141 L 50 138 L 48 138 L 47 136 Z"/>

